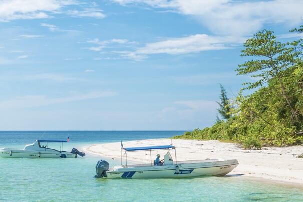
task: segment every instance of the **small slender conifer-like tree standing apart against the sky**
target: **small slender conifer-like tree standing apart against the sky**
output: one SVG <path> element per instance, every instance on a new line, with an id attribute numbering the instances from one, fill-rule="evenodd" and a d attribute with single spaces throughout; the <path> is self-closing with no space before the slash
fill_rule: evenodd
<path id="1" fill-rule="evenodd" d="M 225 88 L 222 84 L 220 84 L 221 88 L 221 95 L 220 95 L 220 102 L 217 102 L 219 105 L 219 108 L 217 109 L 218 113 L 223 119 L 228 120 L 231 117 L 231 105 L 230 101 L 227 97 L 227 93 Z M 217 116 L 217 122 L 220 121 L 220 118 Z"/>

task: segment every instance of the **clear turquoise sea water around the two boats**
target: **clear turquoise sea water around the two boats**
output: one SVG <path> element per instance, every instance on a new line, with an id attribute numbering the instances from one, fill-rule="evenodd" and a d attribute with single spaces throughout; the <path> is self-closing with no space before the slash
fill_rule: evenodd
<path id="1" fill-rule="evenodd" d="M 0 147 L 23 148 L 35 139 L 66 139 L 65 150 L 94 143 L 164 138 L 183 131 L 0 132 Z M 0 158 L 4 201 L 302 201 L 302 189 L 237 177 L 186 179 L 95 179 L 100 157 Z M 106 159 L 108 160 L 108 159 Z M 108 160 L 110 165 L 119 164 Z"/>

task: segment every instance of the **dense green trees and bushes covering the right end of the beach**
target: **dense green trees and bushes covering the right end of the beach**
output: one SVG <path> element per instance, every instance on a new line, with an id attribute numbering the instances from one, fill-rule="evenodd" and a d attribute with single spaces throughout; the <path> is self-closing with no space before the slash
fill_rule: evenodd
<path id="1" fill-rule="evenodd" d="M 303 32 L 303 25 L 291 32 Z M 262 30 L 244 43 L 241 52 L 248 60 L 236 72 L 250 75 L 254 82 L 244 83 L 230 117 L 176 138 L 233 140 L 255 149 L 302 144 L 302 40 L 282 43 L 272 31 Z M 252 93 L 244 96 L 244 91 Z"/>

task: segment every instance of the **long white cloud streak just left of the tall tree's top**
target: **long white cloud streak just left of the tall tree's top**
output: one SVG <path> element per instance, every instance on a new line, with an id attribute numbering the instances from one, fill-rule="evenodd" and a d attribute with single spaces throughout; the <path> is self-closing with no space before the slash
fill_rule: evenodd
<path id="1" fill-rule="evenodd" d="M 234 48 L 245 41 L 243 37 L 210 36 L 196 34 L 188 37 L 172 38 L 160 42 L 148 43 L 144 47 L 137 48 L 134 52 L 123 54 L 134 60 L 142 60 L 150 54 L 186 54 L 209 50 L 222 50 Z"/>

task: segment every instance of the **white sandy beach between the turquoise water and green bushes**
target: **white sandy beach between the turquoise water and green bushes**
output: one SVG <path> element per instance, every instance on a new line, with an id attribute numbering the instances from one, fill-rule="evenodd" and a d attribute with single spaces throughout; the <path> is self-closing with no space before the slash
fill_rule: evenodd
<path id="1" fill-rule="evenodd" d="M 244 150 L 234 143 L 223 143 L 216 140 L 199 141 L 183 139 L 151 139 L 123 142 L 124 147 L 155 146 L 173 144 L 177 147 L 177 160 L 198 159 L 238 159 L 239 166 L 229 175 L 240 177 L 263 178 L 266 181 L 293 183 L 303 187 L 303 145 L 291 147 L 269 147 L 262 150 Z M 120 160 L 120 142 L 97 144 L 85 147 L 85 151 L 103 157 Z M 157 151 L 152 152 L 154 160 Z M 165 151 L 158 151 L 161 158 Z M 174 156 L 172 152 L 172 156 Z M 128 153 L 129 161 L 144 162 L 144 151 Z M 125 157 L 123 158 L 125 162 Z M 150 162 L 150 154 L 146 153 L 146 162 Z"/>

